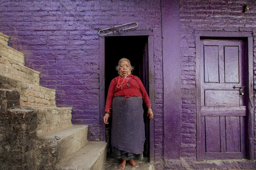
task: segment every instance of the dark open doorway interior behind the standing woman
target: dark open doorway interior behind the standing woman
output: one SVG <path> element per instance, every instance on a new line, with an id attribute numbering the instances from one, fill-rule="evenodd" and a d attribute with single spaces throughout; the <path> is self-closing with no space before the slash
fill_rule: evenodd
<path id="1" fill-rule="evenodd" d="M 148 36 L 110 36 L 105 37 L 105 101 L 111 80 L 118 76 L 115 70 L 120 58 L 128 58 L 134 66 L 133 75 L 138 76 L 149 95 L 148 75 Z M 145 144 L 144 156 L 149 156 L 149 119 L 144 108 Z M 109 143 L 108 151 L 111 152 L 111 117 L 106 125 L 106 141 Z"/>

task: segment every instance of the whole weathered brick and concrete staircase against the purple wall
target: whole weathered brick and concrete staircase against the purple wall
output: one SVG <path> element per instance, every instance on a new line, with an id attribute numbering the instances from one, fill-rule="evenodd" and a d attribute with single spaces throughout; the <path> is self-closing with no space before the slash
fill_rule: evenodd
<path id="1" fill-rule="evenodd" d="M 0 169 L 103 169 L 106 142 L 72 125 L 72 108 L 56 107 L 55 90 L 39 85 L 40 72 L 8 41 L 0 32 Z"/>

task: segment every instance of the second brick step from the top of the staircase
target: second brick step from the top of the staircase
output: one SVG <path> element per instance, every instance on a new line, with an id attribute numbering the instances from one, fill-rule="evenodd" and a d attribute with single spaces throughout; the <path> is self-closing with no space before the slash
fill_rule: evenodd
<path id="1" fill-rule="evenodd" d="M 12 64 L 24 66 L 24 54 L 0 41 L 0 57 Z"/>

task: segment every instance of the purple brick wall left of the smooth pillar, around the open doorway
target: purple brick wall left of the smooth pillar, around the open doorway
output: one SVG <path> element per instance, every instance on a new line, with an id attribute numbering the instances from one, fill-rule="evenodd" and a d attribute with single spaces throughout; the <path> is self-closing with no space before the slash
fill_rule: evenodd
<path id="1" fill-rule="evenodd" d="M 138 22 L 153 30 L 155 145 L 162 151 L 162 51 L 159 0 L 2 0 L 0 31 L 25 54 L 25 65 L 41 72 L 42 86 L 56 89 L 57 106 L 71 106 L 74 124 L 89 124 L 89 140 L 100 139 L 98 30 Z M 101 113 L 103 114 L 103 113 Z"/>

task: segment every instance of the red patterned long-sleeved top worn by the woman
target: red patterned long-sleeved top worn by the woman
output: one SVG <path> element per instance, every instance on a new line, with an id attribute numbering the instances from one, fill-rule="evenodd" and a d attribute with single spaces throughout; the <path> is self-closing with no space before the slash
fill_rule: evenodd
<path id="1" fill-rule="evenodd" d="M 125 77 L 121 76 L 119 82 L 122 83 L 124 78 Z M 112 110 L 113 98 L 116 96 L 125 96 L 125 98 L 133 96 L 142 97 L 146 107 L 151 106 L 150 99 L 147 95 L 145 87 L 137 76 L 132 74 L 128 75 L 125 79 L 125 82 L 120 87 L 117 85 L 118 79 L 119 76 L 112 79 L 110 83 L 108 96 L 106 99 L 105 112 L 109 109 Z"/>

